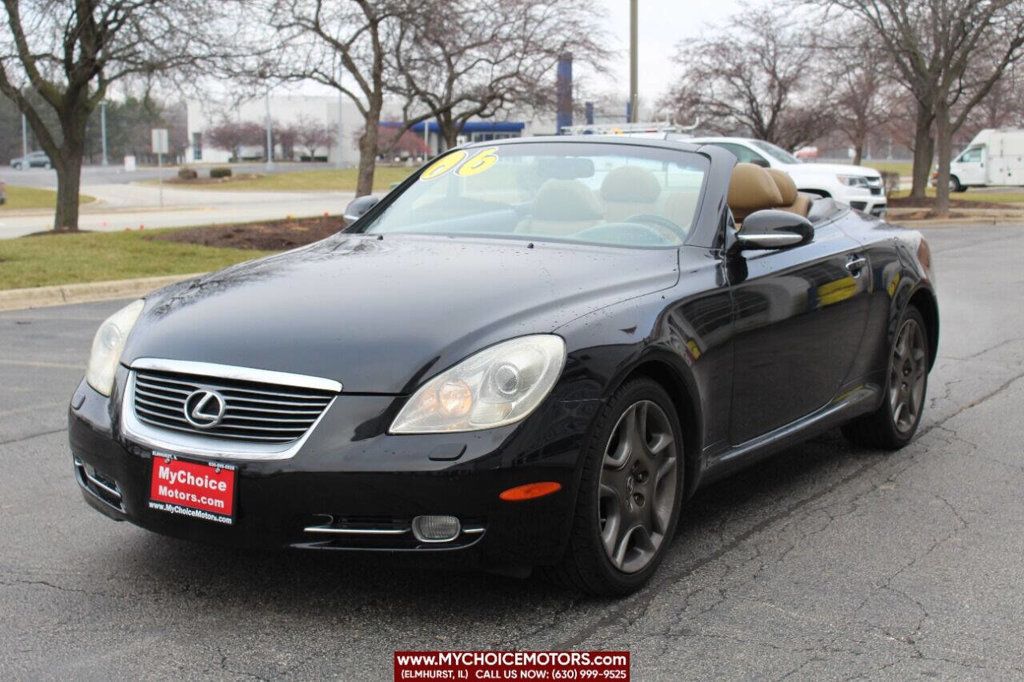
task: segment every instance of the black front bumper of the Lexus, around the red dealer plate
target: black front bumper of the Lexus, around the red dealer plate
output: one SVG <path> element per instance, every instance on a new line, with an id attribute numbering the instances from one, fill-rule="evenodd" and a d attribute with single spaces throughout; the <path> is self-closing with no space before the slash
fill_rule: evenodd
<path id="1" fill-rule="evenodd" d="M 119 385 L 124 386 L 123 376 Z M 293 458 L 231 461 L 237 466 L 234 522 L 223 525 L 150 508 L 154 450 L 121 434 L 117 396 L 116 391 L 108 399 L 83 381 L 69 412 L 82 494 L 111 518 L 217 545 L 461 551 L 483 565 L 537 565 L 561 556 L 575 506 L 579 452 L 599 404 L 552 395 L 556 399 L 549 398 L 516 427 L 393 436 L 385 429 L 396 398 L 342 395 Z M 456 460 L 431 459 L 459 451 Z M 170 454 L 211 461 L 186 452 Z M 509 487 L 541 480 L 562 487 L 526 502 L 498 497 Z M 445 543 L 417 541 L 410 523 L 429 514 L 458 517 L 462 531 Z"/>

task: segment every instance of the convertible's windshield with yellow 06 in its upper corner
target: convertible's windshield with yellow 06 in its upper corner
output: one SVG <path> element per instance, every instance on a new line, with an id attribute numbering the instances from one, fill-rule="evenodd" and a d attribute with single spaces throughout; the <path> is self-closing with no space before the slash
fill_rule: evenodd
<path id="1" fill-rule="evenodd" d="M 537 142 L 434 160 L 362 231 L 628 247 L 682 244 L 707 158 L 622 143 Z"/>

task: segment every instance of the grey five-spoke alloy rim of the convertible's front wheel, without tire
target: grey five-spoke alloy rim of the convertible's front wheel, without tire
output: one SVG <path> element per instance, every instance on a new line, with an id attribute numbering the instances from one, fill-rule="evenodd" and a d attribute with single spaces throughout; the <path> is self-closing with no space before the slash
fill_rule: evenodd
<path id="1" fill-rule="evenodd" d="M 679 453 L 668 415 L 651 400 L 627 408 L 611 431 L 598 520 L 605 553 L 623 572 L 642 570 L 667 540 L 679 495 Z"/>

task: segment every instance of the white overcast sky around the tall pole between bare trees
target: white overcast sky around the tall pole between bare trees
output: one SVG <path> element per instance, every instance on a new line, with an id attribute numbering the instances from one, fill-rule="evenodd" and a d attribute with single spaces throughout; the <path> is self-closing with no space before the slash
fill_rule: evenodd
<path id="1" fill-rule="evenodd" d="M 612 48 L 618 50 L 618 56 L 610 65 L 609 76 L 591 81 L 593 89 L 613 90 L 614 84 L 621 83 L 623 96 L 626 96 L 630 82 L 630 0 L 596 2 L 605 7 Z M 743 4 L 749 6 L 755 2 L 748 0 Z M 705 25 L 722 22 L 739 8 L 736 0 L 640 0 L 641 99 L 652 103 L 675 80 L 672 55 L 680 40 L 698 36 Z"/>

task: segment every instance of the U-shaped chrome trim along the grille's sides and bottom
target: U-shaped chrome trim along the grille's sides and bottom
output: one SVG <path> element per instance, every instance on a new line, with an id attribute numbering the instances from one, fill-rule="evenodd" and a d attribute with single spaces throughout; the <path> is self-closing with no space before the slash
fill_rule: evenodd
<path id="1" fill-rule="evenodd" d="M 137 360 L 136 360 L 137 361 Z M 162 361 L 162 360 L 161 360 Z M 168 360 L 171 361 L 171 360 Z M 134 367 L 134 363 L 132 366 Z M 196 364 L 191 364 L 196 365 Z M 219 366 L 207 366 L 207 367 L 219 367 Z M 140 368 L 142 369 L 142 368 Z M 152 367 L 146 367 L 144 369 L 157 369 Z M 236 368 L 237 369 L 237 368 Z M 184 370 L 168 370 L 169 372 L 184 372 Z M 272 373 L 276 374 L 276 373 Z M 286 375 L 286 376 L 300 376 L 300 375 Z M 218 378 L 212 376 L 211 378 Z M 226 378 L 226 377 L 220 377 Z M 238 378 L 238 377 L 230 377 Z M 324 380 L 327 381 L 327 380 Z M 335 382 L 337 383 L 337 382 Z M 338 390 L 341 390 L 341 384 L 338 385 Z M 331 401 L 327 403 L 324 408 L 324 412 L 321 416 L 316 418 L 306 430 L 302 437 L 298 440 L 286 443 L 263 443 L 263 442 L 237 442 L 222 438 L 213 438 L 209 436 L 194 435 L 190 433 L 185 433 L 182 431 L 171 431 L 169 429 L 161 429 L 156 426 L 150 426 L 139 421 L 138 417 L 135 416 L 135 373 L 128 373 L 128 383 L 125 386 L 124 398 L 121 400 L 121 433 L 129 440 L 136 442 L 145 447 L 150 447 L 154 451 L 165 452 L 175 455 L 188 455 L 198 457 L 201 459 L 210 460 L 241 460 L 241 461 L 268 461 L 268 460 L 288 460 L 295 457 L 302 445 L 305 444 L 309 435 L 316 429 L 316 426 L 324 419 L 324 416 L 330 412 L 331 407 L 337 399 L 337 396 L 331 398 Z"/>

